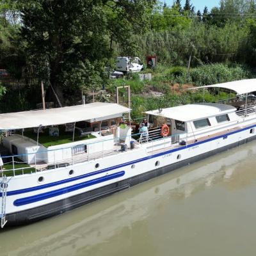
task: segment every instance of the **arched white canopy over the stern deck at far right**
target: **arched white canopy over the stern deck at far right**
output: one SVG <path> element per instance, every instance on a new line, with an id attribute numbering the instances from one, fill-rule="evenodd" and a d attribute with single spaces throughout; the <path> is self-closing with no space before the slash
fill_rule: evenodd
<path id="1" fill-rule="evenodd" d="M 245 79 L 239 81 L 233 81 L 221 84 L 212 84 L 207 86 L 198 86 L 191 88 L 189 90 L 197 90 L 201 88 L 224 88 L 227 90 L 232 90 L 237 93 L 237 95 L 246 94 L 250 92 L 256 92 L 256 79 Z"/>

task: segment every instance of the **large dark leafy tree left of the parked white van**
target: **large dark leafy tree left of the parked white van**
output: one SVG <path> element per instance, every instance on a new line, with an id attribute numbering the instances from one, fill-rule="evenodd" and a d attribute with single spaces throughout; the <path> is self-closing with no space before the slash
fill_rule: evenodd
<path id="1" fill-rule="evenodd" d="M 136 54 L 132 36 L 147 29 L 155 2 L 20 0 L 27 61 L 64 102 L 78 88 L 100 83 L 114 42 L 123 54 Z"/>

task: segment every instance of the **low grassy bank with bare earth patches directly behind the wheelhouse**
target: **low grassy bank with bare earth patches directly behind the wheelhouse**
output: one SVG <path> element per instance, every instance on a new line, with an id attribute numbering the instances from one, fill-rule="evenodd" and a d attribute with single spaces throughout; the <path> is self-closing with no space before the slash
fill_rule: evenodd
<path id="1" fill-rule="evenodd" d="M 195 102 L 216 102 L 234 97 L 234 93 L 189 90 L 195 86 L 225 83 L 255 77 L 252 70 L 241 65 L 213 64 L 191 68 L 159 65 L 152 73 L 152 81 L 140 81 L 138 74 L 127 79 L 109 80 L 107 90 L 115 94 L 116 86 L 131 87 L 132 119 L 141 118 L 146 110 L 179 106 Z M 126 90 L 120 90 L 121 102 L 127 100 Z"/>

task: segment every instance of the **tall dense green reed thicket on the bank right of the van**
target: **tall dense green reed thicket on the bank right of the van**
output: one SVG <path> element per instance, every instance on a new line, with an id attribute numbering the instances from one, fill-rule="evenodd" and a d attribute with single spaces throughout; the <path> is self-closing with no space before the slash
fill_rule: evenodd
<path id="1" fill-rule="evenodd" d="M 194 20 L 184 29 L 172 31 L 148 31 L 137 40 L 140 42 L 141 56 L 157 55 L 159 62 L 166 65 L 191 65 L 204 63 L 237 61 L 241 45 L 244 44 L 248 29 L 235 23 L 227 23 L 222 28 L 207 26 Z"/>

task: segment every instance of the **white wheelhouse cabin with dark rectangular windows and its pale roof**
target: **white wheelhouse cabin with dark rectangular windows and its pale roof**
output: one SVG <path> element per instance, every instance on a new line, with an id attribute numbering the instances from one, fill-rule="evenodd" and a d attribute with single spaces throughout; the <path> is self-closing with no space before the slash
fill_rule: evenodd
<path id="1" fill-rule="evenodd" d="M 173 108 L 147 111 L 150 131 L 163 125 L 168 126 L 166 136 L 179 136 L 180 140 L 193 134 L 211 134 L 216 129 L 237 122 L 236 108 L 225 104 L 200 103 L 177 106 Z M 149 131 L 149 136 L 150 136 Z M 162 134 L 163 135 L 163 134 Z"/>

